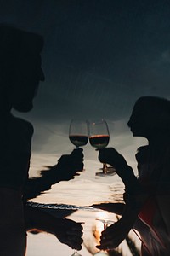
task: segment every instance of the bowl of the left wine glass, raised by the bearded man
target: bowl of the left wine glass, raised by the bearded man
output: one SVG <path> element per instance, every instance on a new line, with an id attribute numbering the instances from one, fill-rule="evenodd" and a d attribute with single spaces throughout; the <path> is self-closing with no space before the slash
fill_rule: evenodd
<path id="1" fill-rule="evenodd" d="M 69 138 L 77 148 L 88 143 L 88 121 L 81 119 L 72 119 L 69 128 Z"/>

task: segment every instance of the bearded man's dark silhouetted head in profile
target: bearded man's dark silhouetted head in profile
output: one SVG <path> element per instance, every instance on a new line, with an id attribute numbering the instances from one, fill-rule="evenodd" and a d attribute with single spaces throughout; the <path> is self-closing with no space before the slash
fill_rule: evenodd
<path id="1" fill-rule="evenodd" d="M 39 81 L 44 80 L 41 67 L 43 38 L 7 25 L 0 25 L 0 38 L 3 104 L 20 112 L 30 111 Z"/>

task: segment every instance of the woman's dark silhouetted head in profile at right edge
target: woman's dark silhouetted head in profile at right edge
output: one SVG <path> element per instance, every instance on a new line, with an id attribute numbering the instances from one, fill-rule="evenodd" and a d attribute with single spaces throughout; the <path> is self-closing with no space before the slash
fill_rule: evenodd
<path id="1" fill-rule="evenodd" d="M 170 101 L 158 96 L 142 96 L 134 104 L 128 121 L 134 137 L 154 137 L 170 133 Z"/>

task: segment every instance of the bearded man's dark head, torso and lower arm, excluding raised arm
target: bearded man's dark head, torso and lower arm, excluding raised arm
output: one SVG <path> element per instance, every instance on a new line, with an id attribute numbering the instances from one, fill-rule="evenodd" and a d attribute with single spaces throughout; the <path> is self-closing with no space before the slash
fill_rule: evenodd
<path id="1" fill-rule="evenodd" d="M 23 256 L 26 230 L 48 231 L 59 241 L 81 249 L 82 226 L 68 219 L 58 219 L 23 204 L 31 157 L 32 125 L 16 118 L 11 110 L 29 112 L 44 80 L 41 67 L 43 38 L 11 26 L 0 26 L 0 255 Z M 77 151 L 82 159 L 82 150 Z M 70 159 L 75 154 L 71 154 Z M 65 166 L 60 160 L 59 168 Z M 75 171 L 76 173 L 77 171 Z M 43 184 L 45 180 L 43 179 Z M 40 189 L 41 190 L 41 189 Z M 69 239 L 69 236 L 72 239 Z"/>

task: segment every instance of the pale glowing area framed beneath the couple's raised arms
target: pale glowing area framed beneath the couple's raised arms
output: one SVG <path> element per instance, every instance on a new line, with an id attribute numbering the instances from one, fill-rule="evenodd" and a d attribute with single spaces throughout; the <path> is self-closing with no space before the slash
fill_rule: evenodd
<path id="1" fill-rule="evenodd" d="M 70 181 L 55 184 L 50 191 L 36 198 L 42 203 L 63 203 L 77 206 L 90 206 L 99 202 L 120 202 L 124 186 L 117 175 L 96 177 L 99 164 L 86 163 L 86 170 Z"/>

